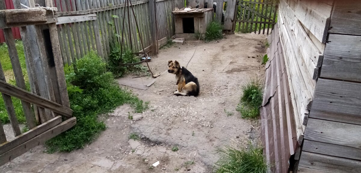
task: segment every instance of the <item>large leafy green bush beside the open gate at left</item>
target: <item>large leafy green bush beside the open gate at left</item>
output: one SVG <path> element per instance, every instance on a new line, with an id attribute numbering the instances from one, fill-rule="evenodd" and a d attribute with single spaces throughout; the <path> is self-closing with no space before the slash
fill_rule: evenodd
<path id="1" fill-rule="evenodd" d="M 148 103 L 139 100 L 131 91 L 115 85 L 112 73 L 106 72 L 106 63 L 90 52 L 77 61 L 76 68 L 64 68 L 70 106 L 77 124 L 68 131 L 47 141 L 48 152 L 73 151 L 84 147 L 105 129 L 98 114 L 108 113 L 128 103 L 136 112 L 143 112 Z"/>

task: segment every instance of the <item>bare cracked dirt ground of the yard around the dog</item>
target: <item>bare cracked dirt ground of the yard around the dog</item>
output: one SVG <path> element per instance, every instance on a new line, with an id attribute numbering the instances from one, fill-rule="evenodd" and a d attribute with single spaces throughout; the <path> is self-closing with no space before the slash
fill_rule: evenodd
<path id="1" fill-rule="evenodd" d="M 223 145 L 258 141 L 258 120 L 245 120 L 235 110 L 241 85 L 249 78 L 263 79 L 262 56 L 266 36 L 227 35 L 219 42 L 200 42 L 187 69 L 200 83 L 197 97 L 173 96 L 175 76 L 163 73 L 147 90 L 130 88 L 150 108 L 131 113 L 129 105 L 101 116 L 107 129 L 84 149 L 45 154 L 38 146 L 0 167 L 4 173 L 209 173 Z M 168 60 L 185 66 L 195 42 L 161 50 L 149 62 L 154 73 L 165 72 Z M 255 58 L 253 58 L 255 57 Z M 131 77 L 129 77 L 131 78 Z M 226 113 L 232 112 L 232 113 Z M 128 119 L 128 112 L 134 120 Z M 130 133 L 140 140 L 129 140 Z M 178 151 L 172 151 L 178 146 Z M 151 167 L 155 162 L 159 165 Z"/>

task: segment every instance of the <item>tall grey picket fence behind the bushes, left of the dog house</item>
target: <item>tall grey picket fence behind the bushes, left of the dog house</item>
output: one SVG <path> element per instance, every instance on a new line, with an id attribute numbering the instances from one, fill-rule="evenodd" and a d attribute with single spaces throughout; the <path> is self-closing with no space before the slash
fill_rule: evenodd
<path id="1" fill-rule="evenodd" d="M 58 35 L 64 63 L 74 62 L 88 51 L 97 50 L 106 61 L 111 53 L 109 39 L 121 40 L 122 18 L 125 0 L 54 0 L 58 8 Z M 174 35 L 174 8 L 182 8 L 183 0 L 135 0 L 132 8 L 138 22 L 139 32 L 146 52 L 165 44 Z M 153 10 L 153 12 L 152 12 Z M 127 13 L 125 13 L 127 18 Z M 142 50 L 134 16 L 130 10 L 130 21 L 125 20 L 124 39 L 132 50 Z M 154 22 L 153 22 L 154 21 Z M 153 23 L 156 23 L 154 25 Z M 130 27 L 130 28 L 129 28 Z M 153 33 L 153 30 L 156 31 Z M 130 40 L 131 39 L 131 40 Z M 156 49 L 157 51 L 157 49 Z"/>

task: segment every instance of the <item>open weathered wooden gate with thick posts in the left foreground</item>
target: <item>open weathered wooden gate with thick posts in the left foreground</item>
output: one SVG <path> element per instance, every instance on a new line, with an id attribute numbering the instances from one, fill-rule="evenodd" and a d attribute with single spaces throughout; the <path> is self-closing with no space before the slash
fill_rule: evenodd
<path id="1" fill-rule="evenodd" d="M 34 0 L 13 0 L 14 10 L 5 10 L 0 2 L 0 29 L 4 29 L 6 44 L 16 86 L 6 82 L 0 64 L 0 92 L 8 117 L 16 136 L 8 140 L 0 122 L 0 165 L 13 160 L 31 148 L 73 127 L 76 118 L 69 108 L 64 67 L 60 54 L 56 22 L 57 9 L 51 0 L 45 0 L 45 7 L 35 7 Z M 22 7 L 30 7 L 21 9 Z M 12 28 L 20 27 L 26 56 L 27 77 L 19 61 Z M 29 81 L 30 91 L 27 91 Z M 22 133 L 13 105 L 13 99 L 21 100 L 29 131 Z M 64 116 L 64 117 L 62 117 Z M 62 121 L 62 119 L 66 119 Z M 40 125 L 37 125 L 40 124 Z"/>

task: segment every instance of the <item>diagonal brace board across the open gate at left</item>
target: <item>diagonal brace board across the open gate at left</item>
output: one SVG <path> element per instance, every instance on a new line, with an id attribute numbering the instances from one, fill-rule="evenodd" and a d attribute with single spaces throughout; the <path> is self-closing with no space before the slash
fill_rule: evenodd
<path id="1" fill-rule="evenodd" d="M 73 110 L 0 80 L 0 92 L 71 117 Z"/>

